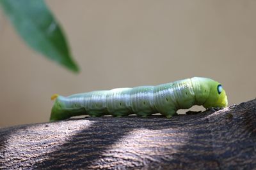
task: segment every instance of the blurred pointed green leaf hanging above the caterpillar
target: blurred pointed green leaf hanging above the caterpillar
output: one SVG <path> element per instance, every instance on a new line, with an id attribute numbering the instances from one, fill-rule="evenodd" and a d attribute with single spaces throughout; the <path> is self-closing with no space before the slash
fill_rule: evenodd
<path id="1" fill-rule="evenodd" d="M 43 0 L 0 0 L 0 4 L 29 46 L 68 69 L 79 71 L 60 25 Z"/>

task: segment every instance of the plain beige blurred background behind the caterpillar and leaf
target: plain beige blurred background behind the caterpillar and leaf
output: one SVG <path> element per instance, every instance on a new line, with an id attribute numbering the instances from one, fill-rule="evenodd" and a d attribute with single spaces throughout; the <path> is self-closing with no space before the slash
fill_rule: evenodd
<path id="1" fill-rule="evenodd" d="M 256 97 L 256 1 L 47 1 L 81 73 L 25 45 L 0 11 L 0 127 L 47 122 L 54 93 L 204 76 Z"/>

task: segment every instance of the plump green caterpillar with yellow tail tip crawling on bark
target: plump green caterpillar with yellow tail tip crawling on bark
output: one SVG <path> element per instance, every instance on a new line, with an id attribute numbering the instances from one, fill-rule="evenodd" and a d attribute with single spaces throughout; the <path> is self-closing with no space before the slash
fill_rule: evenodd
<path id="1" fill-rule="evenodd" d="M 51 113 L 51 121 L 62 120 L 76 115 L 116 117 L 136 114 L 147 117 L 161 113 L 167 118 L 177 114 L 179 109 L 193 105 L 204 108 L 223 108 L 228 104 L 225 90 L 220 83 L 210 78 L 187 78 L 173 83 L 134 88 L 118 88 L 74 94 L 56 99 Z"/>

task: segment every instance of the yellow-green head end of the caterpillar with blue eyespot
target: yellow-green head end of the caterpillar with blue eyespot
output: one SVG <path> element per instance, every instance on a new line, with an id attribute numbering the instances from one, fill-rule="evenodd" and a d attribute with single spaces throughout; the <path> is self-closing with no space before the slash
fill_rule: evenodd
<path id="1" fill-rule="evenodd" d="M 217 81 L 210 83 L 210 94 L 203 106 L 205 108 L 225 108 L 228 105 L 228 99 L 222 85 Z"/>

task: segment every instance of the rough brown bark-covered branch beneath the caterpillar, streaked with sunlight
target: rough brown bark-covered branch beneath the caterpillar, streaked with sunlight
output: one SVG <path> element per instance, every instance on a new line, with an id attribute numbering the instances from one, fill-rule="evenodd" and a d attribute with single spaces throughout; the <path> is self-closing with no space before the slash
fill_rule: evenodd
<path id="1" fill-rule="evenodd" d="M 0 129 L 0 169 L 256 169 L 256 99 L 220 111 Z"/>

